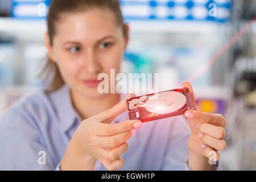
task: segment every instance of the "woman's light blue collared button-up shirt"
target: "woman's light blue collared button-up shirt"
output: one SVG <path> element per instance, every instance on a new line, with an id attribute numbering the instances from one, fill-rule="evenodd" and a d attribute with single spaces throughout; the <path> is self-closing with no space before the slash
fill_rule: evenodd
<path id="1" fill-rule="evenodd" d="M 81 123 L 73 109 L 70 88 L 46 93 L 40 89 L 20 98 L 0 121 L 1 170 L 58 170 L 69 140 Z M 125 98 L 121 94 L 120 100 Z M 112 123 L 128 120 L 128 113 Z M 189 170 L 187 140 L 191 135 L 183 116 L 143 123 L 127 140 L 120 170 Z M 95 170 L 106 170 L 97 160 Z M 217 169 L 220 169 L 218 164 Z"/>

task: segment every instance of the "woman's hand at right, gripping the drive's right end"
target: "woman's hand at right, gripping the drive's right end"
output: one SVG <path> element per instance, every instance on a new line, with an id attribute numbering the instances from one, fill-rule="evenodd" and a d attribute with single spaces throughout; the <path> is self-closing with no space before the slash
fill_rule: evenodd
<path id="1" fill-rule="evenodd" d="M 191 94 L 193 104 L 195 97 L 191 85 L 184 82 L 181 87 L 187 87 Z M 196 110 L 185 112 L 192 135 L 188 139 L 189 159 L 188 166 L 192 170 L 214 169 L 209 164 L 220 159 L 218 151 L 226 148 L 225 125 L 226 119 L 221 114 L 204 113 Z"/>

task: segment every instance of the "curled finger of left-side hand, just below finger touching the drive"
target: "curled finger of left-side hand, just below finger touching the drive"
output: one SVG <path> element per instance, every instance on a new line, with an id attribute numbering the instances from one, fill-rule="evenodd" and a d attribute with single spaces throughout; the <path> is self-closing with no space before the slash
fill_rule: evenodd
<path id="1" fill-rule="evenodd" d="M 98 147 L 115 148 L 131 137 L 131 131 L 125 131 L 117 135 L 99 137 L 96 136 L 94 142 Z"/>

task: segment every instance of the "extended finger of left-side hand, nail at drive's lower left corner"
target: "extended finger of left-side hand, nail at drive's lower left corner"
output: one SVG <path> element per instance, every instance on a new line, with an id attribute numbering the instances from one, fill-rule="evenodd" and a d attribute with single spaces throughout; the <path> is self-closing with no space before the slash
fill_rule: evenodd
<path id="1" fill-rule="evenodd" d="M 112 136 L 119 133 L 123 133 L 125 131 L 138 129 L 141 126 L 142 122 L 137 119 L 134 119 L 115 123 L 113 125 L 100 122 L 94 123 L 91 130 L 93 131 L 93 134 L 97 136 Z"/>

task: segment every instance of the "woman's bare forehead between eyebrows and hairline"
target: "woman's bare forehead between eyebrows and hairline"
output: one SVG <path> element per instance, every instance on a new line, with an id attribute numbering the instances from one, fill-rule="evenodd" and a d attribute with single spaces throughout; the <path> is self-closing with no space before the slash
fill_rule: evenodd
<path id="1" fill-rule="evenodd" d="M 64 14 L 56 25 L 55 36 L 62 39 L 95 39 L 97 41 L 106 36 L 117 37 L 121 32 L 111 11 L 97 9 Z"/>

